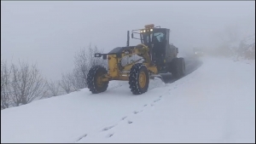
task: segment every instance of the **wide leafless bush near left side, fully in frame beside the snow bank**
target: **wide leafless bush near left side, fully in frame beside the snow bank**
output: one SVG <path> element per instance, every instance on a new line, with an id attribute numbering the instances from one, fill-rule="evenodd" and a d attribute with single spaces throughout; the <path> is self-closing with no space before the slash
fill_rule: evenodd
<path id="1" fill-rule="evenodd" d="M 20 66 L 11 66 L 11 84 L 9 91 L 15 106 L 41 99 L 46 94 L 46 82 L 36 65 L 29 66 L 20 62 Z"/>

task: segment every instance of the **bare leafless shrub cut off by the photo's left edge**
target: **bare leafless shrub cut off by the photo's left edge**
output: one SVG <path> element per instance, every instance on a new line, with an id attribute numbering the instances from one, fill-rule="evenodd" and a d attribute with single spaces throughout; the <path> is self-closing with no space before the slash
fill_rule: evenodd
<path id="1" fill-rule="evenodd" d="M 9 76 L 10 71 L 6 61 L 1 60 L 1 110 L 10 106 L 9 97 Z"/>

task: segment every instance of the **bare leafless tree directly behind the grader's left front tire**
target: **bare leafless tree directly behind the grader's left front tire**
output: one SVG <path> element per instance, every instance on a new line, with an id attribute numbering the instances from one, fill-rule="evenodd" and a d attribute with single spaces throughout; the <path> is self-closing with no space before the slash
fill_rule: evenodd
<path id="1" fill-rule="evenodd" d="M 79 53 L 75 55 L 74 60 L 74 77 L 76 79 L 77 89 L 87 87 L 86 77 L 91 66 L 102 65 L 107 66 L 107 60 L 94 57 L 95 53 L 102 53 L 103 49 L 98 49 L 96 46 L 93 48 L 91 44 L 88 49 L 80 49 Z"/>

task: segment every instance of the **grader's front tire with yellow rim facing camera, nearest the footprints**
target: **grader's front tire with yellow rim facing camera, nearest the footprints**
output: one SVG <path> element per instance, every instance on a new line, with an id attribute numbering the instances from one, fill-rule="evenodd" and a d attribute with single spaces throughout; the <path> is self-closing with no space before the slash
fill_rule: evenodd
<path id="1" fill-rule="evenodd" d="M 149 84 L 148 68 L 142 63 L 133 65 L 130 71 L 129 84 L 133 95 L 141 95 L 147 92 Z"/>

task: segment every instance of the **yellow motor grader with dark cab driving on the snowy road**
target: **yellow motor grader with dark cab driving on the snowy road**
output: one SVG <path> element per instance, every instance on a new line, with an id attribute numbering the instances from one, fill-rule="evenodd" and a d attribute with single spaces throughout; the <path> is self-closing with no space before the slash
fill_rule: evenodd
<path id="1" fill-rule="evenodd" d="M 178 49 L 169 43 L 169 34 L 167 28 L 146 25 L 131 31 L 131 38 L 139 39 L 141 43 L 129 46 L 128 31 L 125 47 L 112 49 L 108 54 L 96 53 L 95 57 L 108 60 L 108 69 L 104 66 L 90 68 L 86 79 L 90 91 L 101 93 L 108 89 L 109 81 L 123 80 L 129 81 L 132 94 L 141 95 L 148 90 L 149 78 L 160 77 L 160 73 L 171 72 L 176 78 L 183 77 L 185 61 L 182 57 L 177 58 Z"/>

